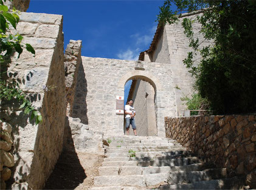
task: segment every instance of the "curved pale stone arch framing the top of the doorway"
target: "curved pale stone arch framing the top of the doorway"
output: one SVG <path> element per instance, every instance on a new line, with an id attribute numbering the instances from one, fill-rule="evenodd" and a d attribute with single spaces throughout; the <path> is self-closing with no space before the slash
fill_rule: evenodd
<path id="1" fill-rule="evenodd" d="M 118 87 L 123 88 L 128 80 L 141 79 L 150 83 L 154 90 L 163 90 L 160 81 L 150 72 L 145 70 L 133 70 L 122 76 L 119 81 Z"/>

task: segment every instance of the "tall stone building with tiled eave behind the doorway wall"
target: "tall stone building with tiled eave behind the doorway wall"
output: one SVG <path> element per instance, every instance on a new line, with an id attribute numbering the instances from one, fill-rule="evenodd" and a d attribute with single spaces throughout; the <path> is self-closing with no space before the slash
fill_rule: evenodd
<path id="1" fill-rule="evenodd" d="M 186 17 L 191 18 L 192 16 L 188 15 Z M 181 22 L 182 18 L 175 24 L 157 25 L 157 30 L 150 48 L 145 50 L 145 52 L 141 52 L 139 55 L 139 60 L 142 61 L 169 64 L 171 72 L 167 73 L 167 75 L 173 81 L 176 116 L 180 116 L 181 110 L 186 109 L 185 103 L 181 99 L 186 96 L 190 97 L 194 92 L 194 78 L 183 63 L 184 58 L 187 57 L 187 53 L 191 52 L 192 49 L 189 47 L 189 41 L 184 34 Z M 193 32 L 195 33 L 195 38 L 198 38 L 199 42 L 202 42 L 199 47 L 209 46 L 212 42 L 204 40 L 203 36 L 199 33 L 200 29 L 201 25 L 194 22 Z M 199 55 L 197 55 L 195 60 L 198 59 L 199 61 L 199 58 Z"/>

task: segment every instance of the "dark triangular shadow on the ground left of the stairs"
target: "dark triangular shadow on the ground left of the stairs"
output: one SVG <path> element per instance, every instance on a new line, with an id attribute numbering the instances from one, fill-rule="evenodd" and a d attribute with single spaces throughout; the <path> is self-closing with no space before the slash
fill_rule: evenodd
<path id="1" fill-rule="evenodd" d="M 64 130 L 63 152 L 58 158 L 54 171 L 48 178 L 44 189 L 75 189 L 87 177 L 75 152 L 67 118 Z"/>

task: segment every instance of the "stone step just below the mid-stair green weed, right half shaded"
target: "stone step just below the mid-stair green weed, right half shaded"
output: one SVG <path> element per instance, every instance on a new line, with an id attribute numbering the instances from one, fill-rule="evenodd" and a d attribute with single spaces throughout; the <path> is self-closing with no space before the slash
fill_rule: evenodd
<path id="1" fill-rule="evenodd" d="M 197 157 L 185 157 L 153 161 L 103 161 L 102 166 L 183 166 L 193 163 L 199 163 L 199 159 Z"/>

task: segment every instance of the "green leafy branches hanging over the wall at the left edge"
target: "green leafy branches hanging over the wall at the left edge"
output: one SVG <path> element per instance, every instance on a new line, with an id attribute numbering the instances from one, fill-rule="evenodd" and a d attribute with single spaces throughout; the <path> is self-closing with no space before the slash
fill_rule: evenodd
<path id="1" fill-rule="evenodd" d="M 5 1 L 5 0 L 4 0 Z M 21 102 L 19 109 L 24 109 L 25 114 L 31 114 L 31 119 L 35 118 L 38 124 L 42 120 L 41 115 L 34 109 L 27 96 L 15 80 L 9 79 L 7 76 L 7 67 L 10 63 L 10 56 L 13 52 L 18 52 L 18 57 L 23 51 L 23 47 L 35 55 L 35 50 L 30 44 L 22 43 L 22 36 L 19 34 L 12 35 L 9 30 L 10 25 L 16 30 L 19 22 L 19 16 L 15 8 L 9 12 L 8 7 L 0 0 L 0 99 L 11 101 L 17 99 Z"/>

